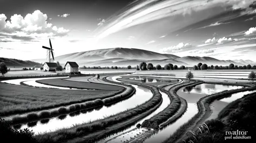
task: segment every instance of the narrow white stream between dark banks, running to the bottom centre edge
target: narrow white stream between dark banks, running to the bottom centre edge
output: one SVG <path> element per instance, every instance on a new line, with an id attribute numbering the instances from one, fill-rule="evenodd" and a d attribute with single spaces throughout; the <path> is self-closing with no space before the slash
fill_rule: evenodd
<path id="1" fill-rule="evenodd" d="M 162 104 L 159 106 L 159 108 L 158 108 L 156 111 L 152 112 L 149 116 L 147 116 L 147 117 L 143 118 L 142 120 L 138 121 L 138 122 L 135 123 L 133 126 L 127 128 L 126 130 L 121 131 L 121 132 L 118 132 L 118 133 L 115 133 L 115 134 L 113 134 L 113 135 L 110 135 L 109 137 L 107 137 L 107 138 L 105 138 L 105 139 L 103 139 L 103 140 L 98 141 L 98 143 L 103 143 L 103 142 L 105 142 L 105 141 L 111 142 L 111 143 L 112 143 L 112 142 L 120 142 L 121 140 L 122 140 L 122 142 L 123 142 L 123 141 L 126 141 L 126 139 L 127 139 L 127 140 L 130 140 L 131 137 L 134 138 L 134 135 L 137 136 L 137 134 L 139 134 L 139 132 L 142 133 L 143 130 L 146 131 L 145 128 L 140 128 L 140 129 L 137 129 L 137 130 L 135 130 L 135 131 L 132 131 L 132 132 L 129 132 L 129 133 L 120 135 L 120 134 L 122 134 L 122 133 L 125 133 L 125 132 L 127 132 L 127 131 L 132 130 L 133 128 L 136 127 L 136 125 L 137 125 L 138 123 L 142 124 L 144 120 L 149 119 L 149 118 L 153 117 L 154 115 L 156 115 L 157 113 L 159 113 L 159 112 L 161 112 L 162 110 L 164 110 L 164 109 L 170 104 L 170 98 L 169 98 L 169 96 L 168 96 L 167 94 L 165 94 L 164 92 L 161 92 L 161 95 L 162 95 L 162 97 L 163 97 L 163 102 L 162 102 Z M 120 135 L 120 137 L 117 137 L 117 136 L 119 136 L 119 135 Z M 113 140 L 110 140 L 110 139 L 112 139 L 112 138 L 114 138 L 114 137 L 117 137 L 117 138 L 116 138 L 116 139 L 113 139 Z M 110 141 L 108 141 L 108 140 L 110 140 Z"/>

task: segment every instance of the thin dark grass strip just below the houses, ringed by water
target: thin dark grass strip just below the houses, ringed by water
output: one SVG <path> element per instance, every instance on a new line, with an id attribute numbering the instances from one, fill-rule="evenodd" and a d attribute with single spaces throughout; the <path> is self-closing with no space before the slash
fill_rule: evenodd
<path id="1" fill-rule="evenodd" d="M 67 81 L 62 79 L 49 79 L 49 80 L 39 80 L 39 83 L 54 85 L 57 87 L 69 87 L 69 88 L 82 88 L 82 89 L 98 89 L 98 90 L 123 90 L 123 87 L 109 84 L 100 83 L 87 83 L 87 82 L 76 82 Z"/>

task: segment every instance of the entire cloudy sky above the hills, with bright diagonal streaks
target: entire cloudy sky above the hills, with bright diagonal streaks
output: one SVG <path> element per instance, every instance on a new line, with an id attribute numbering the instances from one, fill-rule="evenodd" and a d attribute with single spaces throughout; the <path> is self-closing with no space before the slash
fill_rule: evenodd
<path id="1" fill-rule="evenodd" d="M 255 60 L 255 0 L 0 0 L 0 57 L 104 48 Z"/>

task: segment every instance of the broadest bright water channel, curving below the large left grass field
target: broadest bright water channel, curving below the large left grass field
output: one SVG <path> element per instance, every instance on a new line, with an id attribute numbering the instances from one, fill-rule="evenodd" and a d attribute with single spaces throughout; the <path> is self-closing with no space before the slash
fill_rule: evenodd
<path id="1" fill-rule="evenodd" d="M 106 116 L 114 115 L 118 112 L 125 111 L 126 109 L 134 108 L 139 104 L 148 101 L 153 95 L 150 89 L 138 88 L 137 85 L 133 85 L 136 88 L 136 94 L 126 99 L 125 101 L 114 104 L 113 106 L 103 106 L 101 109 L 93 110 L 91 112 L 80 113 L 80 115 L 73 116 L 71 114 L 66 117 L 57 117 L 50 119 L 48 124 L 37 123 L 36 126 L 28 127 L 28 125 L 22 125 L 22 128 L 29 128 L 35 133 L 56 131 L 58 128 L 71 127 L 76 124 L 86 123 L 87 121 L 93 121 L 102 119 Z M 142 90 L 143 89 L 143 90 Z M 147 92 L 145 92 L 147 91 Z"/>

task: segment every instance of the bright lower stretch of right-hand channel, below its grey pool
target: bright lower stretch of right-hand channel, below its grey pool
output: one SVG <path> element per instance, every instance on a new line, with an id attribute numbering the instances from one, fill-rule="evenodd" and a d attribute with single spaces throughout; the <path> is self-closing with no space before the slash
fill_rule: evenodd
<path id="1" fill-rule="evenodd" d="M 173 124 L 159 130 L 157 134 L 152 135 L 149 139 L 146 139 L 144 142 L 152 143 L 152 142 L 163 142 L 166 138 L 170 137 L 181 125 L 186 123 L 189 119 L 191 119 L 198 112 L 197 104 L 188 103 L 187 111 L 184 113 L 181 118 L 175 121 Z"/>

